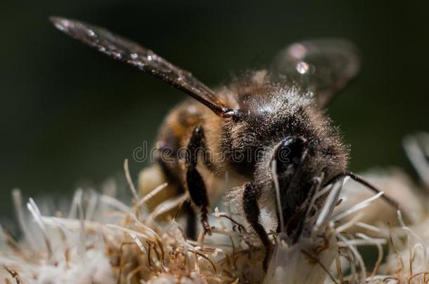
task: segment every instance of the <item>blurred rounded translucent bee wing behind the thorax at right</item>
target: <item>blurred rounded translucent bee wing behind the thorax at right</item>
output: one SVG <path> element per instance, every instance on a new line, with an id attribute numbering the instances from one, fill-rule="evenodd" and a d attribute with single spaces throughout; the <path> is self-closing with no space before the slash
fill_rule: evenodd
<path id="1" fill-rule="evenodd" d="M 312 91 L 321 109 L 359 72 L 360 56 L 350 41 L 318 39 L 293 43 L 274 61 L 276 72 Z"/>

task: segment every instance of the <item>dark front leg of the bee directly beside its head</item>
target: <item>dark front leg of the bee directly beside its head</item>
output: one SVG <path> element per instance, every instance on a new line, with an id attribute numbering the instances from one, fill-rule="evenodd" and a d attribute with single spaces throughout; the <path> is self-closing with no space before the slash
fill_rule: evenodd
<path id="1" fill-rule="evenodd" d="M 260 223 L 260 208 L 257 205 L 258 198 L 257 190 L 250 182 L 247 182 L 244 185 L 243 192 L 243 210 L 245 218 L 252 226 L 252 229 L 255 230 L 256 234 L 260 237 L 262 245 L 265 247 L 265 257 L 262 266 L 264 271 L 267 271 L 268 262 L 273 251 L 273 244 L 269 240 L 267 231 L 265 231 L 264 226 Z"/>

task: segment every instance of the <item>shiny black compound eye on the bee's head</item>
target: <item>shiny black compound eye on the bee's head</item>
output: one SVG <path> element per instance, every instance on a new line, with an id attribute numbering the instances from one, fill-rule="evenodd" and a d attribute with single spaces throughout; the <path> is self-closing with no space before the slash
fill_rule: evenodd
<path id="1" fill-rule="evenodd" d="M 278 165 L 299 163 L 306 149 L 307 140 L 304 137 L 289 136 L 278 144 L 274 158 Z"/>

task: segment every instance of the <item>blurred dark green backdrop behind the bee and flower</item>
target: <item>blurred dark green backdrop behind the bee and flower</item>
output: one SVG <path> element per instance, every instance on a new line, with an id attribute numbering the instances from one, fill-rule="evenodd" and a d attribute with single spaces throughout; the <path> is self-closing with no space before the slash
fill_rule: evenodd
<path id="1" fill-rule="evenodd" d="M 286 44 L 344 37 L 360 76 L 329 112 L 352 144 L 352 170 L 399 165 L 401 139 L 429 130 L 428 10 L 423 1 L 2 1 L 0 214 L 10 191 L 71 195 L 122 175 L 185 97 L 54 29 L 49 15 L 108 27 L 188 69 L 208 86 L 264 67 Z M 143 164 L 131 162 L 136 177 Z"/>

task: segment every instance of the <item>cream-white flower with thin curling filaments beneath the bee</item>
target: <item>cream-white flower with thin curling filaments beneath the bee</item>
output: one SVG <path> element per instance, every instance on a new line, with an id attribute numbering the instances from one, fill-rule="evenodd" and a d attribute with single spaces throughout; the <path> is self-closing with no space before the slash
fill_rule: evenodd
<path id="1" fill-rule="evenodd" d="M 429 136 L 408 137 L 405 144 L 425 182 L 429 138 L 422 137 Z M 274 252 L 267 273 L 262 244 L 240 210 L 214 208 L 212 236 L 187 240 L 182 220 L 165 217 L 186 196 L 154 202 L 157 194 L 168 196 L 161 184 L 141 197 L 127 164 L 125 170 L 131 205 L 115 197 L 111 184 L 102 193 L 77 190 L 70 209 L 56 212 L 43 203 L 39 209 L 31 198 L 23 210 L 20 191 L 13 191 L 22 238 L 17 242 L 0 227 L 0 277 L 38 284 L 428 283 L 429 198 L 416 193 L 399 170 L 372 171 L 364 178 L 399 201 L 400 212 L 380 198 L 383 193 L 373 195 L 351 181 L 315 187 L 305 203 L 301 234 L 292 240 L 271 232 Z M 375 267 L 365 265 L 361 245 L 378 252 Z M 384 262 L 383 245 L 389 246 Z"/>

